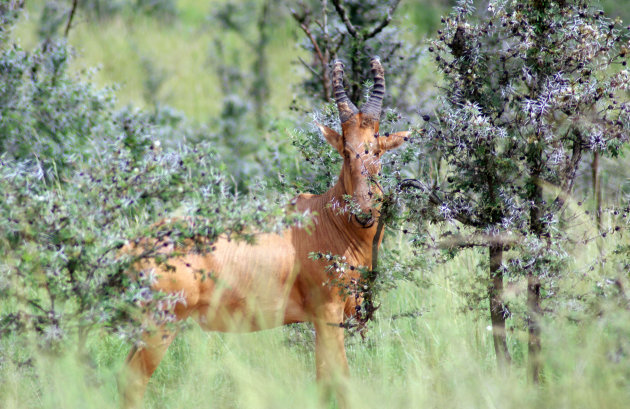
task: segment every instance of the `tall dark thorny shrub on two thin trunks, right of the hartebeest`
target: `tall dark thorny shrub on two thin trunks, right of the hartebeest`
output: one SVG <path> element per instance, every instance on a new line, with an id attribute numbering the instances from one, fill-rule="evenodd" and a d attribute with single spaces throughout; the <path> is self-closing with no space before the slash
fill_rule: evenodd
<path id="1" fill-rule="evenodd" d="M 421 134 L 446 169 L 436 220 L 473 229 L 459 245 L 489 248 L 488 295 L 499 358 L 509 311 L 504 276 L 527 277 L 530 370 L 541 372 L 541 302 L 567 262 L 564 220 L 578 165 L 617 157 L 628 142 L 630 27 L 581 0 L 458 2 L 429 51 L 444 76 L 435 120 Z M 504 251 L 518 254 L 509 262 Z"/>

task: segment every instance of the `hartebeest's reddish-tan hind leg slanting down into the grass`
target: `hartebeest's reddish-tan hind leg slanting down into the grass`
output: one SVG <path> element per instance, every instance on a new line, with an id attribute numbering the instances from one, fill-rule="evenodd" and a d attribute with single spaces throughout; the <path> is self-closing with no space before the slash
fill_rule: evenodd
<path id="1" fill-rule="evenodd" d="M 134 346 L 129 351 L 123 377 L 118 385 L 122 395 L 121 407 L 127 409 L 141 406 L 149 379 L 164 358 L 175 335 L 175 331 L 158 329 L 142 337 L 143 346 Z"/>

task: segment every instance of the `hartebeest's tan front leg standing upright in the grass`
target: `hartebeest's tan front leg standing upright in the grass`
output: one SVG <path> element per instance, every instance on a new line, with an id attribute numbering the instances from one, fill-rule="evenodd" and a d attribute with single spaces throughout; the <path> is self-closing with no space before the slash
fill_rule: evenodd
<path id="1" fill-rule="evenodd" d="M 335 393 L 341 408 L 347 407 L 345 384 L 350 375 L 344 329 L 339 326 L 343 312 L 343 304 L 331 303 L 323 306 L 314 320 L 317 381 L 326 399 Z"/>

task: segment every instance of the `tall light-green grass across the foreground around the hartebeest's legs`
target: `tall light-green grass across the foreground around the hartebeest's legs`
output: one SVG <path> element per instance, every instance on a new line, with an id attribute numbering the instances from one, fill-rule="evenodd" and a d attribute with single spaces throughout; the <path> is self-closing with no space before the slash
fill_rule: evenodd
<path id="1" fill-rule="evenodd" d="M 558 308 L 543 321 L 545 381 L 532 385 L 525 373 L 526 333 L 512 326 L 508 338 L 514 364 L 509 371 L 500 371 L 484 310 L 465 312 L 469 301 L 457 286 L 470 278 L 482 256 L 476 251 L 463 253 L 425 272 L 430 285 L 403 283 L 383 296 L 367 339 L 347 339 L 350 407 L 625 407 L 630 399 L 630 313 L 602 303 L 598 314 L 576 320 L 567 318 L 570 306 Z M 576 264 L 589 257 L 585 252 Z M 391 319 L 410 310 L 422 315 Z M 251 334 L 204 333 L 193 324 L 187 327 L 151 379 L 145 407 L 322 407 L 308 325 Z M 89 348 L 94 363 L 87 369 L 72 356 L 37 356 L 32 368 L 5 362 L 0 375 L 2 407 L 116 407 L 115 379 L 129 346 L 99 335 Z"/>

